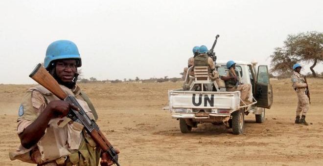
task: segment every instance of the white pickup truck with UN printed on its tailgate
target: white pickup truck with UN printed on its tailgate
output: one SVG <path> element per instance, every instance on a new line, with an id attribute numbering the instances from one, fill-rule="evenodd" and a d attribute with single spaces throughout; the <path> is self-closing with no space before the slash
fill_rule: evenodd
<path id="1" fill-rule="evenodd" d="M 187 72 L 183 89 L 168 91 L 169 110 L 172 118 L 180 121 L 181 132 L 187 133 L 192 127 L 197 127 L 201 123 L 212 123 L 224 124 L 232 128 L 233 134 L 241 134 L 244 128 L 244 115 L 249 113 L 255 114 L 257 123 L 264 122 L 265 108 L 270 108 L 273 103 L 273 90 L 269 82 L 267 65 L 259 65 L 258 68 L 256 65 L 256 62 L 235 64 L 240 83 L 252 85 L 250 96 L 252 104 L 243 103 L 240 91 L 226 91 L 222 80 L 212 81 L 208 77 L 207 70 L 203 72 L 195 67 L 195 77 L 189 76 Z M 220 77 L 226 76 L 226 62 L 217 62 L 216 70 Z"/>

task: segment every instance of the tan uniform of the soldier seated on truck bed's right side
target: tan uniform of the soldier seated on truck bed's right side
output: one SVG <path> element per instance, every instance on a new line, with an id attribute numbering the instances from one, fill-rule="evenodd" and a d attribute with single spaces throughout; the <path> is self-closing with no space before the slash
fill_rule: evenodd
<path id="1" fill-rule="evenodd" d="M 235 70 L 235 73 L 236 75 L 238 76 L 238 72 Z M 227 77 L 232 77 L 233 74 L 231 72 L 231 70 L 228 70 L 227 72 Z M 249 98 L 250 98 L 250 95 L 251 95 L 251 84 L 250 83 L 245 83 L 245 84 L 240 84 L 240 85 L 236 85 L 236 82 L 237 81 L 225 81 L 226 83 L 226 88 L 227 88 L 227 91 L 240 91 L 241 92 L 241 96 L 240 98 L 245 102 L 250 102 L 249 101 Z M 247 103 L 249 104 L 249 103 Z"/>

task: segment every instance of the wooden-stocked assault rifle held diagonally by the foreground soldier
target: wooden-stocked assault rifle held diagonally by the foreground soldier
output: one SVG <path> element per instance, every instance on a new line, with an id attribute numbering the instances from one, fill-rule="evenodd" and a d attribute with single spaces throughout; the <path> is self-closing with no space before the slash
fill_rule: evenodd
<path id="1" fill-rule="evenodd" d="M 42 66 L 42 64 L 39 63 L 36 66 L 36 68 L 31 72 L 29 77 L 35 80 L 37 83 L 43 85 L 46 89 L 52 92 L 59 99 L 77 106 L 79 110 L 77 111 L 74 109 L 70 109 L 67 117 L 69 117 L 74 122 L 82 124 L 87 133 L 91 135 L 96 145 L 100 146 L 102 152 L 106 152 L 110 156 L 111 160 L 117 166 L 120 166 L 118 163 L 118 154 L 116 154 L 116 151 L 113 148 L 113 146 L 100 131 L 99 126 L 96 125 L 94 120 L 91 120 L 89 118 L 84 109 L 73 96 L 70 96 L 63 91 L 63 89 L 59 86 L 57 81 L 48 73 L 48 71 Z"/>

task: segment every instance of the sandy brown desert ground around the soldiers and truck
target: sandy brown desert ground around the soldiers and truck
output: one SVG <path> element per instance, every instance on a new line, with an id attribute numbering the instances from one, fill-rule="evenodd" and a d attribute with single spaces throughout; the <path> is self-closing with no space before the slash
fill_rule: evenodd
<path id="1" fill-rule="evenodd" d="M 256 124 L 246 116 L 244 133 L 233 135 L 223 125 L 200 124 L 182 134 L 171 119 L 167 90 L 182 83 L 87 83 L 87 92 L 99 114 L 98 125 L 119 148 L 122 166 L 322 166 L 323 79 L 309 79 L 312 125 L 295 125 L 296 94 L 290 79 L 272 81 L 274 104 L 266 121 Z M 19 144 L 15 133 L 18 107 L 33 85 L 0 84 L 0 166 L 29 166 L 10 161 L 8 152 Z"/>

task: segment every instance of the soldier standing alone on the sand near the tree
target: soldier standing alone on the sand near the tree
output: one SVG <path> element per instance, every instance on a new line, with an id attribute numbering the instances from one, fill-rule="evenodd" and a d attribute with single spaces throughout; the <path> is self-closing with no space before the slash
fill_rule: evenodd
<path id="1" fill-rule="evenodd" d="M 293 89 L 296 91 L 298 97 L 298 104 L 296 108 L 296 118 L 295 124 L 304 124 L 308 125 L 305 121 L 306 113 L 309 109 L 309 98 L 307 96 L 308 92 L 308 84 L 305 83 L 304 77 L 300 74 L 301 66 L 299 63 L 293 65 L 293 75 L 291 77 L 291 81 L 293 83 Z M 300 118 L 301 114 L 301 118 Z"/>

